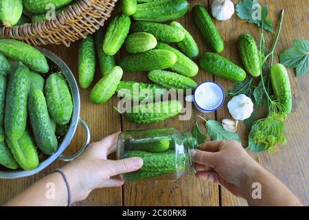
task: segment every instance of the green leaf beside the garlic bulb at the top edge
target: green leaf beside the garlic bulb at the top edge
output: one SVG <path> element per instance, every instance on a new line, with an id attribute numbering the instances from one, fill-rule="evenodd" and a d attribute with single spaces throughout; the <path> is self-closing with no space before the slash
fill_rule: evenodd
<path id="1" fill-rule="evenodd" d="M 236 12 L 240 19 L 246 20 L 249 23 L 255 23 L 259 27 L 262 27 L 262 23 L 264 23 L 265 30 L 269 32 L 275 32 L 271 19 L 267 17 L 268 6 L 264 5 L 264 7 L 262 8 L 261 5 L 258 3 L 258 0 L 240 1 L 236 5 Z M 258 17 L 260 17 L 260 19 Z"/>

